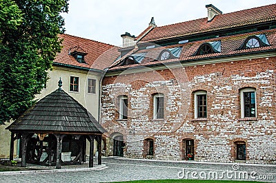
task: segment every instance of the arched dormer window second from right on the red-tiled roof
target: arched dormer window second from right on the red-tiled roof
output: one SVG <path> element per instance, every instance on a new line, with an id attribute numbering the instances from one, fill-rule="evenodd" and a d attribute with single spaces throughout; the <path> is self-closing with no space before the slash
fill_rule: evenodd
<path id="1" fill-rule="evenodd" d="M 201 45 L 195 55 L 214 54 L 219 52 L 221 52 L 221 42 L 214 41 Z"/>

